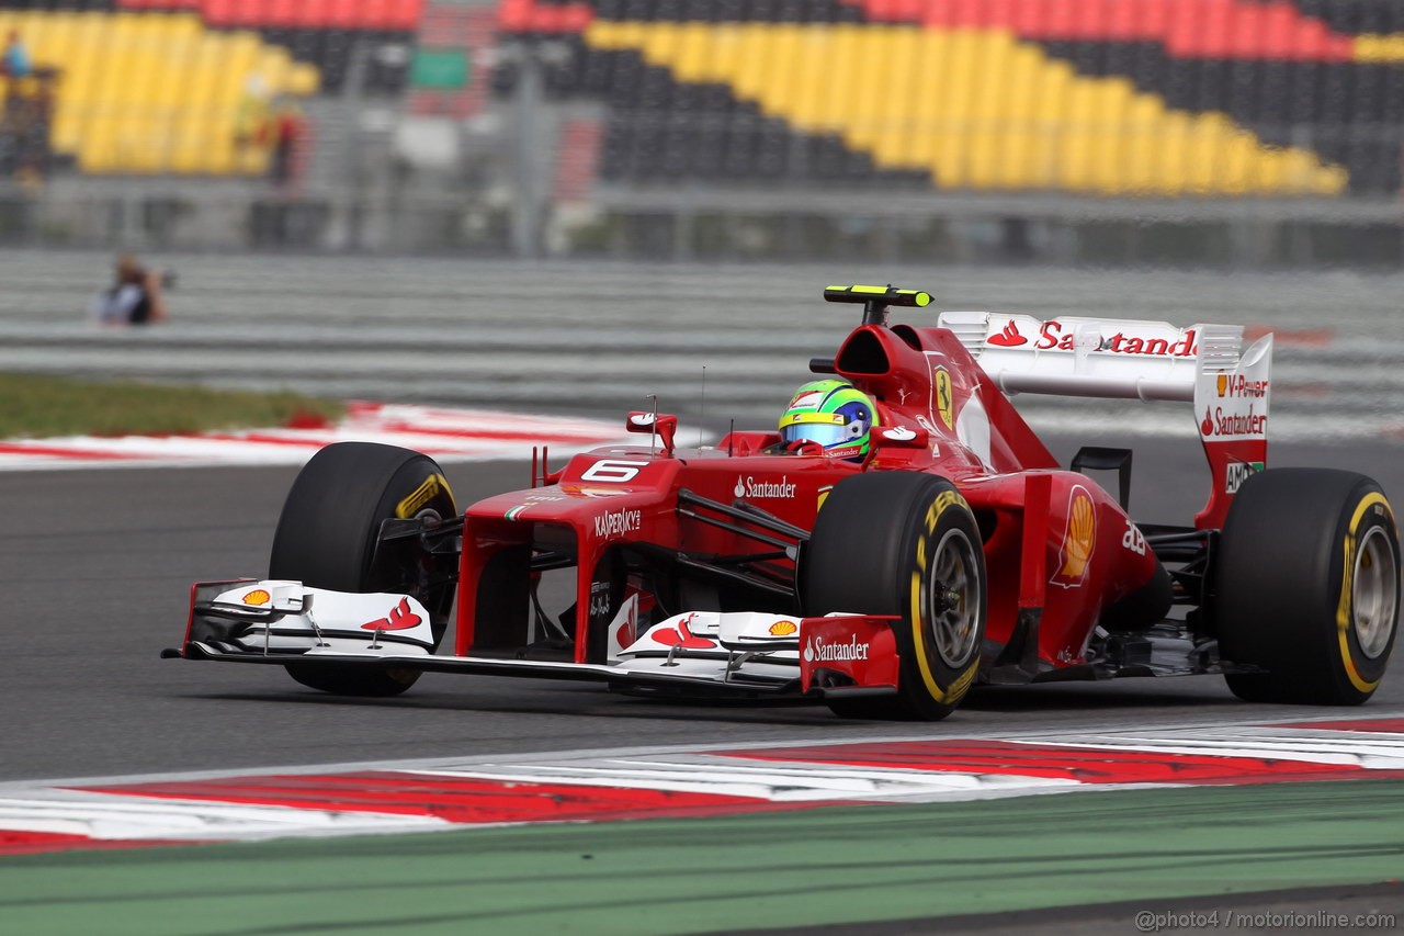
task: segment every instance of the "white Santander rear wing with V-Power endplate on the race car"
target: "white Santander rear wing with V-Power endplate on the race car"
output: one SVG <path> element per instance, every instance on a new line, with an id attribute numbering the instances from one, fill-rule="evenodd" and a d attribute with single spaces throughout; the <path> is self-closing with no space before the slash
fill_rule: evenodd
<path id="1" fill-rule="evenodd" d="M 1238 485 L 1266 465 L 1271 334 L 1244 349 L 1236 325 L 995 312 L 943 312 L 939 325 L 1009 395 L 1192 402 L 1213 485 L 1200 528 L 1223 526 Z"/>

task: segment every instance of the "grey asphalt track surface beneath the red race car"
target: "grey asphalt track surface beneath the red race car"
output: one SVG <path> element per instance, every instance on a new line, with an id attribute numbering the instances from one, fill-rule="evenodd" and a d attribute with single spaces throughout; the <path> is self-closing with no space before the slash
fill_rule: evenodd
<path id="1" fill-rule="evenodd" d="M 1115 438 L 1080 440 L 1115 444 Z M 1067 460 L 1077 443 L 1056 440 Z M 1205 495 L 1198 443 L 1139 440 L 1133 513 L 1188 521 Z M 1278 446 L 1275 465 L 1351 468 L 1404 505 L 1391 446 Z M 969 736 L 1028 728 L 1341 715 L 1250 706 L 1217 677 L 976 691 L 934 725 L 842 722 L 816 706 L 699 706 L 587 684 L 427 675 L 393 700 L 345 700 L 279 669 L 161 661 L 197 579 L 261 575 L 295 469 L 0 475 L 0 780 L 263 769 L 703 742 Z M 462 500 L 522 486 L 524 464 L 448 467 Z M 1404 715 L 1404 679 L 1359 715 Z"/>

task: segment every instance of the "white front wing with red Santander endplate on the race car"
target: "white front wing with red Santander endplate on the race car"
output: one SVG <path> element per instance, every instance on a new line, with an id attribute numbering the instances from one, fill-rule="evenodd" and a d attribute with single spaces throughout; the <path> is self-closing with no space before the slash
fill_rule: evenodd
<path id="1" fill-rule="evenodd" d="M 240 579 L 195 585 L 185 639 L 161 656 L 562 679 L 687 694 L 833 698 L 897 691 L 900 661 L 892 625 L 893 618 L 861 614 L 782 618 L 692 613 L 650 627 L 607 663 L 441 656 L 432 652 L 428 613 L 413 597 Z"/>

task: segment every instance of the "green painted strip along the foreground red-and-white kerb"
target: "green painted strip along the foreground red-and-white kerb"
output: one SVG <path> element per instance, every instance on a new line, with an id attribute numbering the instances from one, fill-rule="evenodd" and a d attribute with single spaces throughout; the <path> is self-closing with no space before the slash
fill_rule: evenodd
<path id="1" fill-rule="evenodd" d="M 644 935 L 1389 878 L 1404 878 L 1404 781 L 1360 780 L 11 857 L 0 919 L 105 936 Z"/>

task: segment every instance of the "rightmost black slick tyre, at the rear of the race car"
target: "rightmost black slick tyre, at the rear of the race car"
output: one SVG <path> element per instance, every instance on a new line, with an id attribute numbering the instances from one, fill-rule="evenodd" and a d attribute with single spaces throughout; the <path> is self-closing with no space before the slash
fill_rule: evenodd
<path id="1" fill-rule="evenodd" d="M 1238 489 L 1214 572 L 1226 673 L 1247 701 L 1359 706 L 1394 646 L 1400 545 L 1380 486 L 1348 471 L 1276 468 Z"/>

